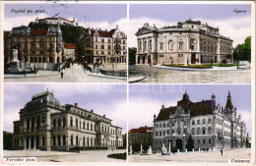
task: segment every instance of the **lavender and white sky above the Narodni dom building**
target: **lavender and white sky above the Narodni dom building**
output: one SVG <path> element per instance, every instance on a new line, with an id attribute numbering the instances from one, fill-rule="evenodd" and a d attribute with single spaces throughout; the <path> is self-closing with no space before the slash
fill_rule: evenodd
<path id="1" fill-rule="evenodd" d="M 4 131 L 13 132 L 13 122 L 20 120 L 20 109 L 32 100 L 32 95 L 53 90 L 54 97 L 61 104 L 74 104 L 112 120 L 112 125 L 127 131 L 127 95 L 125 84 L 83 84 L 76 83 L 5 83 L 4 87 Z"/>

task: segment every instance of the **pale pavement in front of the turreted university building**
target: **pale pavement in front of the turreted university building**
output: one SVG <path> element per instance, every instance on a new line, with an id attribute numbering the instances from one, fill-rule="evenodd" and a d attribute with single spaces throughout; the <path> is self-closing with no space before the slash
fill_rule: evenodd
<path id="1" fill-rule="evenodd" d="M 209 152 L 188 152 L 175 153 L 175 155 L 140 155 L 133 154 L 128 156 L 128 162 L 183 162 L 183 163 L 213 163 L 224 162 L 228 159 L 251 159 L 251 148 L 224 149 L 224 155 L 221 156 L 220 150 Z"/>

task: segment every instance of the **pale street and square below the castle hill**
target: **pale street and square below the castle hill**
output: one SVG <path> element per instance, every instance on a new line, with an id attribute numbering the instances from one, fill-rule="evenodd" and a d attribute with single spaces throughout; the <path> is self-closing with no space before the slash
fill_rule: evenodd
<path id="1" fill-rule="evenodd" d="M 64 72 L 64 77 L 58 72 L 39 71 L 36 75 L 5 75 L 5 83 L 126 83 L 125 80 L 118 80 L 112 78 L 102 78 L 87 75 L 82 66 L 74 64 L 70 69 Z"/>

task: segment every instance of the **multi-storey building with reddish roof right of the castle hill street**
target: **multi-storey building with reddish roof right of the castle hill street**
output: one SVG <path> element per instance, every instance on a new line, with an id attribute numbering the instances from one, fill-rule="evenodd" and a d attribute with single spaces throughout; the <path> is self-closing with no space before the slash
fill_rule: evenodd
<path id="1" fill-rule="evenodd" d="M 78 59 L 85 63 L 126 63 L 127 36 L 118 26 L 110 31 L 88 28 L 78 42 Z"/>

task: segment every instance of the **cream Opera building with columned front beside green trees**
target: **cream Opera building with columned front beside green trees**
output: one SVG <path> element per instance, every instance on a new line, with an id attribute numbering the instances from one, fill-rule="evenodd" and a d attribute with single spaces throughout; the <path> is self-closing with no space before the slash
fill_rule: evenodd
<path id="1" fill-rule="evenodd" d="M 203 64 L 233 62 L 232 40 L 200 21 L 178 22 L 157 28 L 144 24 L 135 34 L 137 65 Z"/>

